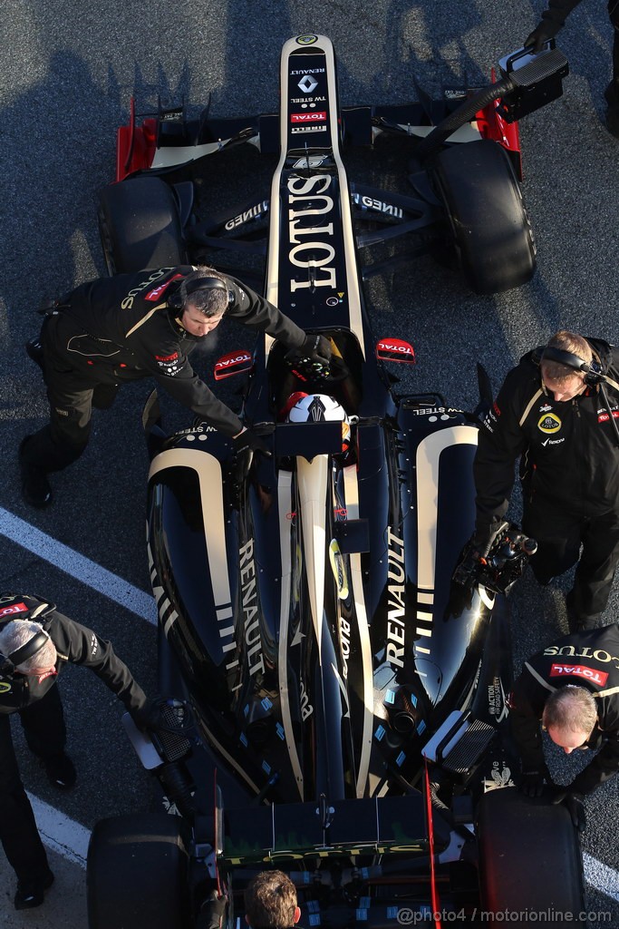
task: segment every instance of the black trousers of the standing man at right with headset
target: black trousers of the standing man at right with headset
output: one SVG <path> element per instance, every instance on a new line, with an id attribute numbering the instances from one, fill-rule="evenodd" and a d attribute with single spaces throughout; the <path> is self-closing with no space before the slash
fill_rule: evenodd
<path id="1" fill-rule="evenodd" d="M 548 583 L 578 565 L 567 605 L 586 628 L 598 623 L 606 608 L 619 561 L 619 512 L 583 517 L 565 505 L 524 494 L 522 529 L 537 542 L 531 568 L 540 583 Z M 581 555 L 582 545 L 582 555 Z"/>

